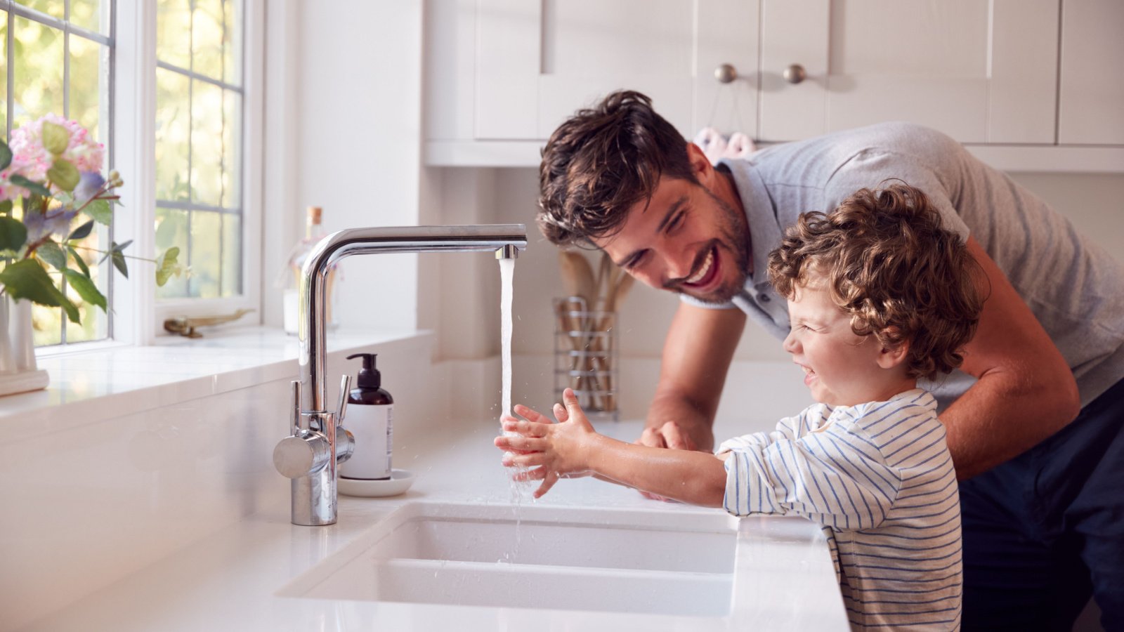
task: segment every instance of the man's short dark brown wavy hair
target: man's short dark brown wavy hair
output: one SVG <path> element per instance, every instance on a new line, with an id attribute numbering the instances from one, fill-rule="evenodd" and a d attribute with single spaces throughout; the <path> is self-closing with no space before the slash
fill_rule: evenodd
<path id="1" fill-rule="evenodd" d="M 697 182 L 687 141 L 640 92 L 613 92 L 551 135 L 538 168 L 538 228 L 552 243 L 587 246 L 614 234 L 660 178 Z"/>

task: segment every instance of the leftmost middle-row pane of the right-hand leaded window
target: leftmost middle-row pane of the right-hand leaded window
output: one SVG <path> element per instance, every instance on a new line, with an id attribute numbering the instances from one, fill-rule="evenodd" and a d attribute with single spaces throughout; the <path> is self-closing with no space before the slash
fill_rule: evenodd
<path id="1" fill-rule="evenodd" d="M 156 199 L 187 201 L 189 198 L 189 85 L 185 75 L 156 69 Z"/>

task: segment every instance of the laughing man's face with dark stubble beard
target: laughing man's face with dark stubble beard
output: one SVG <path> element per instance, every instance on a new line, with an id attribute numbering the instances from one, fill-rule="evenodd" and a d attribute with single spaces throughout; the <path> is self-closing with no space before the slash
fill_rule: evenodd
<path id="1" fill-rule="evenodd" d="M 628 209 L 618 233 L 593 243 L 653 288 L 725 303 L 742 288 L 750 267 L 745 214 L 734 208 L 736 193 L 727 201 L 716 192 L 725 177 L 703 152 L 695 145 L 688 152 L 699 184 L 661 178 L 650 200 Z"/>

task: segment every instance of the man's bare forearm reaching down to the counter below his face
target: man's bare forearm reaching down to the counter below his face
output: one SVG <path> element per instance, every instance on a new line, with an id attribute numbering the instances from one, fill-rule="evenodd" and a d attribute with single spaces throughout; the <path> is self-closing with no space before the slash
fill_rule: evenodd
<path id="1" fill-rule="evenodd" d="M 638 443 L 678 450 L 714 448 L 714 415 L 744 328 L 741 309 L 679 305 L 663 343 L 660 383 Z"/>

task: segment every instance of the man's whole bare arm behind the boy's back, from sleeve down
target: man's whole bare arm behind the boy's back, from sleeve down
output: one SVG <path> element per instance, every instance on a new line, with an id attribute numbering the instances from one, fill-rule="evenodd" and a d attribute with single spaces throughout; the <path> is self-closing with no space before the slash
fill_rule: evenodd
<path id="1" fill-rule="evenodd" d="M 961 369 L 977 381 L 941 415 L 961 480 L 1022 454 L 1073 421 L 1077 381 L 1066 359 L 975 237 L 987 276 L 984 312 Z"/>

